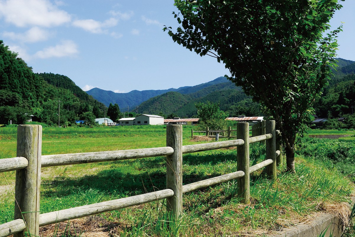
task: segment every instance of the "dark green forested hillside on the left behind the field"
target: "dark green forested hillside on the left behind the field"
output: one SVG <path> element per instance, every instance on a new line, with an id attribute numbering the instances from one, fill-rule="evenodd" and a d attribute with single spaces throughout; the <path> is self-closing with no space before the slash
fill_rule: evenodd
<path id="1" fill-rule="evenodd" d="M 68 77 L 33 73 L 0 41 L 0 124 L 21 124 L 32 114 L 38 122 L 55 125 L 60 109 L 60 124 L 67 126 L 103 117 L 103 107 Z"/>

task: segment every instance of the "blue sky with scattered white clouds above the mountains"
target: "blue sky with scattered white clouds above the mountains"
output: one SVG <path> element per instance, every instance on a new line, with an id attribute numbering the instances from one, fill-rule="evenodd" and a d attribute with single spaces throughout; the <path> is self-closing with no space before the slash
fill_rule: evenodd
<path id="1" fill-rule="evenodd" d="M 355 1 L 342 2 L 331 25 L 341 58 L 355 61 Z M 33 72 L 66 75 L 83 90 L 115 92 L 193 86 L 229 74 L 171 40 L 172 0 L 0 0 L 0 39 Z"/>

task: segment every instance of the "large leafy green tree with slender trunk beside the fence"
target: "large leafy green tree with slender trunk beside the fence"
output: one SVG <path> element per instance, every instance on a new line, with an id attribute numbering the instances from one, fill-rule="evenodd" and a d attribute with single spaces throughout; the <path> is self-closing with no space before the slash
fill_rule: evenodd
<path id="1" fill-rule="evenodd" d="M 175 42 L 223 61 L 229 79 L 276 120 L 287 169 L 295 171 L 296 135 L 335 65 L 341 28 L 325 34 L 338 0 L 175 0 Z M 325 36 L 324 36 L 325 35 Z"/>

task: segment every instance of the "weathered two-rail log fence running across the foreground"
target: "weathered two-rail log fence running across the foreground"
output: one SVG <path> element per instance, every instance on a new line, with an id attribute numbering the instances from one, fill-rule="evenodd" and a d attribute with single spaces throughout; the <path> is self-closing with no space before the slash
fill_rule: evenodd
<path id="1" fill-rule="evenodd" d="M 14 235 L 39 236 L 39 227 L 107 211 L 140 205 L 166 198 L 166 209 L 173 219 L 182 213 L 182 195 L 187 192 L 237 179 L 238 196 L 242 203 L 250 202 L 250 173 L 266 167 L 269 179 L 276 179 L 277 150 L 275 121 L 266 121 L 266 134 L 249 137 L 249 123 L 237 124 L 237 140 L 182 145 L 182 126 L 166 126 L 166 147 L 121 151 L 87 152 L 41 156 L 42 126 L 19 125 L 17 157 L 0 159 L 0 172 L 16 170 L 14 220 L 0 225 L 0 237 Z M 266 159 L 250 167 L 250 143 L 266 140 Z M 238 171 L 191 184 L 182 185 L 182 154 L 219 148 L 237 147 Z M 83 205 L 64 210 L 39 213 L 41 167 L 71 165 L 143 157 L 166 156 L 166 189 Z"/>

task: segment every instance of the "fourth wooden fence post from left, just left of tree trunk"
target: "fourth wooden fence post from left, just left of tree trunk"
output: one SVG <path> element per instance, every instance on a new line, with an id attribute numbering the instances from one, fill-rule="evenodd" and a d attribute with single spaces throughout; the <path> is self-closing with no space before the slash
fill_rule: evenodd
<path id="1" fill-rule="evenodd" d="M 266 134 L 271 133 L 272 138 L 266 140 L 266 159 L 273 159 L 273 163 L 266 167 L 266 173 L 269 179 L 276 180 L 276 130 L 275 120 L 266 121 Z"/>

